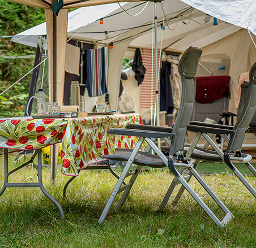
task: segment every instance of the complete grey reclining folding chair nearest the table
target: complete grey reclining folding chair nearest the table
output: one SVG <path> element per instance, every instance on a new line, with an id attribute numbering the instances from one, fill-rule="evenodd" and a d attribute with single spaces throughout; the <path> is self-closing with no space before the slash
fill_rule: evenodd
<path id="1" fill-rule="evenodd" d="M 195 72 L 197 71 L 198 60 L 201 54 L 202 50 L 196 47 L 190 47 L 185 51 L 180 59 L 178 68 L 182 78 L 182 97 L 180 110 L 178 112 L 178 116 L 173 128 L 129 124 L 125 129 L 114 128 L 109 130 L 110 134 L 138 136 L 139 140 L 136 142 L 134 150 L 117 149 L 113 155 L 102 156 L 103 158 L 127 161 L 127 164 L 123 169 L 120 179 L 117 181 L 117 184 L 114 187 L 108 202 L 106 203 L 98 223 L 102 223 L 104 221 L 110 210 L 110 207 L 114 202 L 114 199 L 116 198 L 117 194 L 121 192 L 123 192 L 123 194 L 120 201 L 118 202 L 117 210 L 122 207 L 142 166 L 149 166 L 153 168 L 168 167 L 178 182 L 180 182 L 186 188 L 186 190 L 191 194 L 195 201 L 197 201 L 200 207 L 202 207 L 203 210 L 206 211 L 207 215 L 211 217 L 215 224 L 223 227 L 229 222 L 229 220 L 232 219 L 232 213 L 228 210 L 224 203 L 221 202 L 219 198 L 217 198 L 215 193 L 212 192 L 206 182 L 204 182 L 199 174 L 193 169 L 193 159 L 185 158 L 182 153 L 180 153 L 184 146 L 187 123 L 190 120 L 191 112 L 193 110 L 193 103 L 195 99 Z M 164 140 L 170 141 L 168 157 L 165 156 L 155 144 L 154 141 L 156 138 L 164 138 Z M 143 142 L 147 142 L 148 144 L 145 152 L 139 151 Z M 148 153 L 150 149 L 154 150 L 156 155 Z M 137 167 L 134 171 L 129 172 L 133 163 L 136 164 Z M 176 166 L 179 168 L 176 169 Z M 219 220 L 216 217 L 216 215 L 210 210 L 206 203 L 202 201 L 199 195 L 195 193 L 195 191 L 187 183 L 186 178 L 181 176 L 180 171 L 183 171 L 184 168 L 191 169 L 195 178 L 225 212 L 223 220 Z M 130 181 L 122 186 L 125 178 L 129 176 L 131 176 Z"/>

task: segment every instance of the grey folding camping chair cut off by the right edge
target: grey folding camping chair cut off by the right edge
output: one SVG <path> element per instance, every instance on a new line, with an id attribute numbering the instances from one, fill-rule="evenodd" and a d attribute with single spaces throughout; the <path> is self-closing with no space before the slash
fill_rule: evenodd
<path id="1" fill-rule="evenodd" d="M 184 150 L 186 151 L 186 156 L 195 159 L 194 169 L 197 168 L 201 161 L 207 162 L 225 162 L 227 166 L 232 170 L 234 175 L 246 186 L 251 194 L 256 198 L 256 190 L 249 184 L 245 177 L 240 171 L 234 166 L 233 162 L 244 163 L 248 169 L 256 176 L 256 169 L 251 166 L 250 160 L 251 155 L 242 153 L 241 146 L 244 141 L 245 133 L 248 130 L 248 125 L 254 116 L 256 110 L 256 62 L 250 69 L 250 82 L 248 94 L 244 104 L 244 108 L 237 120 L 234 127 L 219 124 L 209 124 L 201 123 L 199 121 L 190 121 L 187 126 L 187 130 L 192 132 L 197 132 L 191 145 L 185 145 Z M 228 143 L 227 150 L 221 151 L 216 143 L 212 140 L 212 134 L 220 134 L 221 137 Z M 199 138 L 203 136 L 206 140 L 203 147 L 198 147 L 197 143 Z M 229 137 L 228 137 L 229 136 Z M 207 149 L 211 146 L 213 150 Z M 192 177 L 192 173 L 189 173 L 189 180 Z M 172 194 L 174 187 L 177 185 L 176 179 L 172 182 L 172 188 L 169 189 L 169 196 Z M 174 199 L 174 203 L 177 203 L 180 199 L 182 193 L 184 192 L 184 187 L 182 186 Z"/>

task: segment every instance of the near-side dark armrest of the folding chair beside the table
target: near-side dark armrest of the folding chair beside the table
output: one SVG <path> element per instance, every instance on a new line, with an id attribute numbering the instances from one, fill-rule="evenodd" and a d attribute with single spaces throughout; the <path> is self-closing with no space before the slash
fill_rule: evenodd
<path id="1" fill-rule="evenodd" d="M 110 128 L 109 134 L 126 135 L 126 136 L 136 136 L 136 137 L 148 137 L 148 138 L 165 138 L 174 136 L 172 133 L 155 132 L 148 130 L 138 130 L 138 129 L 127 129 L 127 128 Z"/>

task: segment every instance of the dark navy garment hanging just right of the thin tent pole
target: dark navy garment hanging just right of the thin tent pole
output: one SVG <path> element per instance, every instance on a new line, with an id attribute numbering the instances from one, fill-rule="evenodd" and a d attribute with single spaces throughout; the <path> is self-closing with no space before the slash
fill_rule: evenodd
<path id="1" fill-rule="evenodd" d="M 164 62 L 160 77 L 160 111 L 173 112 L 172 85 L 170 84 L 170 63 Z"/>

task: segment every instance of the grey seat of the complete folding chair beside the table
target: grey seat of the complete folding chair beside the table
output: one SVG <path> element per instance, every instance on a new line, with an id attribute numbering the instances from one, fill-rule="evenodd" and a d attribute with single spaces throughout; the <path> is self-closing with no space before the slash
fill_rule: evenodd
<path id="1" fill-rule="evenodd" d="M 127 161 L 129 160 L 132 149 L 121 149 L 117 148 L 114 154 L 112 155 L 101 155 L 101 158 L 107 158 L 112 160 L 119 161 Z M 145 153 L 143 151 L 139 151 L 134 159 L 134 164 L 138 164 L 138 166 L 148 166 L 152 168 L 163 168 L 165 167 L 164 162 L 157 155 L 153 155 L 150 153 Z"/>

